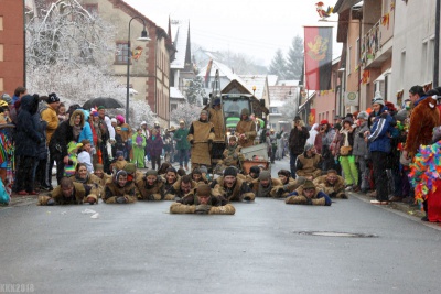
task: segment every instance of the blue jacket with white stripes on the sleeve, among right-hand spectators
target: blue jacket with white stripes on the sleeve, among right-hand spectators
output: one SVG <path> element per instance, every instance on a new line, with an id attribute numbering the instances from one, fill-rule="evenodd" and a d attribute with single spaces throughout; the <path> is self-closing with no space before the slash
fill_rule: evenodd
<path id="1" fill-rule="evenodd" d="M 374 119 L 374 124 L 370 128 L 369 151 L 379 151 L 390 153 L 390 138 L 389 135 L 395 132 L 392 124 L 392 117 L 386 112 L 387 107 L 383 107 L 379 113 Z"/>

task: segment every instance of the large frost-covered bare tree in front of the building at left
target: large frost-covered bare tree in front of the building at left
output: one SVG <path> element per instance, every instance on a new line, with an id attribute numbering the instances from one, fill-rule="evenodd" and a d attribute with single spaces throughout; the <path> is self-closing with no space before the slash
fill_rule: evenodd
<path id="1" fill-rule="evenodd" d="M 55 91 L 67 105 L 112 97 L 126 102 L 111 75 L 115 28 L 92 15 L 76 0 L 50 4 L 45 14 L 26 24 L 26 86 L 32 92 Z M 130 100 L 130 121 L 139 124 L 154 115 L 142 99 Z M 125 115 L 123 109 L 112 113 Z"/>

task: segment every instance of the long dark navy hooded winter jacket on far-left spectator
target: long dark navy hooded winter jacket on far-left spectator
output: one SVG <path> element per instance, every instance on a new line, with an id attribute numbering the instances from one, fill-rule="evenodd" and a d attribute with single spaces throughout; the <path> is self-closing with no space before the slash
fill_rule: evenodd
<path id="1" fill-rule="evenodd" d="M 33 119 L 39 100 L 26 95 L 21 98 L 20 112 L 15 124 L 15 155 L 37 156 L 39 144 L 45 138 L 39 132 L 40 122 Z"/>

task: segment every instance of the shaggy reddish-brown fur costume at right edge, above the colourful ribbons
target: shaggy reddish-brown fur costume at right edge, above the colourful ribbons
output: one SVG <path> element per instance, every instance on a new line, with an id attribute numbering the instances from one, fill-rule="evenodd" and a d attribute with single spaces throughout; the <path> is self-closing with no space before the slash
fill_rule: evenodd
<path id="1" fill-rule="evenodd" d="M 440 126 L 440 111 L 437 101 L 427 97 L 418 104 L 410 116 L 409 133 L 406 139 L 405 150 L 410 156 L 418 153 L 418 148 L 428 145 L 432 141 L 432 130 Z"/>

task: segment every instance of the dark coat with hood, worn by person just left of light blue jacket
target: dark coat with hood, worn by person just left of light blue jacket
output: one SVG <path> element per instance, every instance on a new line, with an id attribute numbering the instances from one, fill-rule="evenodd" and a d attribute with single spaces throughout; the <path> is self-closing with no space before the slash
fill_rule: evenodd
<path id="1" fill-rule="evenodd" d="M 51 142 L 49 143 L 49 149 L 51 155 L 55 157 L 63 159 L 68 155 L 67 144 L 71 141 L 78 142 L 78 138 L 74 138 L 74 118 L 79 116 L 82 118 L 79 126 L 83 128 L 85 123 L 84 112 L 80 109 L 75 110 L 69 120 L 63 121 L 60 123 L 58 128 L 56 128 L 54 134 L 51 138 Z"/>

